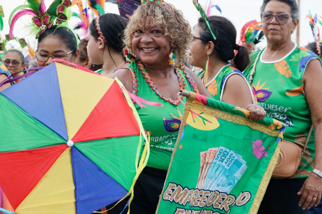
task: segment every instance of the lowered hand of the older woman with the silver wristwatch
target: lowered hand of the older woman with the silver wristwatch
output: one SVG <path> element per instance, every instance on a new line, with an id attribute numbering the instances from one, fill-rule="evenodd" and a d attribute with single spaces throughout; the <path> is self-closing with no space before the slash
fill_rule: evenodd
<path id="1" fill-rule="evenodd" d="M 305 180 L 298 195 L 302 195 L 298 206 L 302 206 L 302 209 L 310 209 L 313 204 L 317 206 L 321 200 L 322 192 L 322 178 L 315 173 L 310 173 Z"/>

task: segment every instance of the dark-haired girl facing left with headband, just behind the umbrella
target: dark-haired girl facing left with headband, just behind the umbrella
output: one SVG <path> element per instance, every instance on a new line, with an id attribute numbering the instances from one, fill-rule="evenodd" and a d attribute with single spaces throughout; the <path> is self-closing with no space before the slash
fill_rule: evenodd
<path id="1" fill-rule="evenodd" d="M 106 13 L 95 18 L 88 29 L 87 54 L 93 64 L 103 64 L 97 71 L 110 76 L 118 67 L 124 66 L 122 35 L 127 20 L 120 15 Z"/>

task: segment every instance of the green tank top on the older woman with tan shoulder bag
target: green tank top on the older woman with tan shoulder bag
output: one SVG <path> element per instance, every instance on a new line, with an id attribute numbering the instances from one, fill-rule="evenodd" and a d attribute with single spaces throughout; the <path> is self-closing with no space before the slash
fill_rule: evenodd
<path id="1" fill-rule="evenodd" d="M 311 59 L 320 59 L 312 51 L 297 46 L 283 58 L 267 62 L 262 59 L 263 51 L 251 54 L 251 65 L 244 74 L 249 77 L 258 54 L 252 87 L 258 104 L 267 111 L 267 116 L 285 123 L 284 139 L 304 147 L 312 125 L 308 103 L 303 91 L 303 74 Z M 321 59 L 320 59 L 321 60 Z M 306 177 L 313 170 L 314 130 L 303 154 L 298 170 L 293 177 Z"/>

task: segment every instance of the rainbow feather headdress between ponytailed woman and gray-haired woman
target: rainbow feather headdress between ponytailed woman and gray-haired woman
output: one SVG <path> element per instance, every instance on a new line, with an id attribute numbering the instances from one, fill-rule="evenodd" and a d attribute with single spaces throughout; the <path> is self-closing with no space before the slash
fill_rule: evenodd
<path id="1" fill-rule="evenodd" d="M 252 20 L 247 22 L 241 30 L 239 45 L 245 45 L 248 42 L 256 45 L 264 38 L 262 23 Z"/>

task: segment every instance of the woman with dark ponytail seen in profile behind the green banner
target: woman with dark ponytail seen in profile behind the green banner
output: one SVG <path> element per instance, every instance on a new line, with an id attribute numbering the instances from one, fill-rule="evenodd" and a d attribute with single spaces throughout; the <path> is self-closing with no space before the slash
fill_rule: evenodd
<path id="1" fill-rule="evenodd" d="M 236 44 L 234 25 L 221 16 L 209 16 L 208 21 L 213 33 L 204 18 L 199 18 L 192 31 L 189 64 L 205 67 L 197 76 L 214 99 L 242 108 L 255 104 L 251 86 L 241 72 L 250 59 L 247 49 Z"/>

